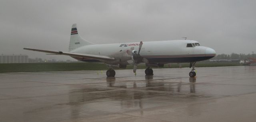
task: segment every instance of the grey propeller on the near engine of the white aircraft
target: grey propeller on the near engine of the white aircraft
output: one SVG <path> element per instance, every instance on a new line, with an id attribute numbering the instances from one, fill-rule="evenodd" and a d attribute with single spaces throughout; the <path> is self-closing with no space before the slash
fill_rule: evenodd
<path id="1" fill-rule="evenodd" d="M 138 63 L 140 62 L 148 63 L 148 60 L 146 58 L 140 56 L 140 50 L 141 50 L 142 44 L 143 44 L 142 41 L 140 41 L 138 54 L 133 53 L 133 59 L 134 59 L 133 72 L 134 73 L 136 73 Z"/>

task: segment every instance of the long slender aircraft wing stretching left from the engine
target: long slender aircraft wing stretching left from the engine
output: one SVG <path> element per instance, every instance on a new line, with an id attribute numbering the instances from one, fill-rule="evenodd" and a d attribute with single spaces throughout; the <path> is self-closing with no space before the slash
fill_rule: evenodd
<path id="1" fill-rule="evenodd" d="M 84 53 L 68 53 L 68 52 L 62 52 L 62 51 L 49 51 L 49 50 L 32 49 L 32 48 L 23 48 L 23 49 L 44 52 L 44 53 L 51 53 L 51 54 L 55 54 L 55 55 L 68 55 L 71 57 L 84 57 L 84 58 L 98 59 L 98 60 L 114 60 L 114 58 L 112 58 L 112 57 L 103 56 L 103 55 L 91 55 L 91 54 L 84 54 Z"/>

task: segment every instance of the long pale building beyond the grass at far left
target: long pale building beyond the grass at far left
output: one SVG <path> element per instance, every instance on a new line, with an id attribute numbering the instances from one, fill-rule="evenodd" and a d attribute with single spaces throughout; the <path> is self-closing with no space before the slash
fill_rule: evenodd
<path id="1" fill-rule="evenodd" d="M 28 63 L 28 55 L 0 55 L 0 63 Z"/>

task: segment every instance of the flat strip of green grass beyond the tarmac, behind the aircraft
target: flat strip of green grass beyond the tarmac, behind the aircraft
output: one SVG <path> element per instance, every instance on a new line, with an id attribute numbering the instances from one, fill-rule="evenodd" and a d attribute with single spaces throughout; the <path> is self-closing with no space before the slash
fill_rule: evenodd
<path id="1" fill-rule="evenodd" d="M 189 67 L 189 63 L 181 63 L 182 67 Z M 196 67 L 223 67 L 238 66 L 238 63 L 230 62 L 198 62 Z M 172 63 L 171 68 L 178 68 L 177 63 Z M 138 69 L 144 69 L 144 64 L 139 64 Z M 164 65 L 161 68 L 169 68 Z M 78 70 L 105 70 L 106 64 L 102 63 L 2 63 L 0 73 L 6 72 L 38 72 L 38 71 L 78 71 Z M 127 69 L 133 69 L 133 65 L 128 65 Z"/>

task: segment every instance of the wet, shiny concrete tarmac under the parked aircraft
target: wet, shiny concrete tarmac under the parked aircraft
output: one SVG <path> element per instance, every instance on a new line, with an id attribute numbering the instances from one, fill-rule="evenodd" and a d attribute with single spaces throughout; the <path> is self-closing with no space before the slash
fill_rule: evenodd
<path id="1" fill-rule="evenodd" d="M 196 69 L 0 73 L 0 121 L 256 121 L 256 66 Z"/>

